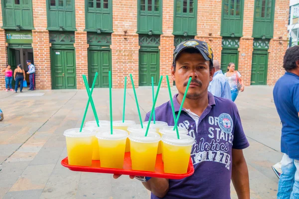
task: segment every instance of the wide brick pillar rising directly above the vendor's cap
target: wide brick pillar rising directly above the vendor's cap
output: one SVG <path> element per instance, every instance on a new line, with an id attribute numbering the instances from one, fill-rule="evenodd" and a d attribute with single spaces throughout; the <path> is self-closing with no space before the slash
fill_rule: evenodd
<path id="1" fill-rule="evenodd" d="M 213 1 L 213 8 L 209 0 L 198 0 L 197 3 L 197 36 L 195 39 L 210 44 L 214 59 L 221 63 L 221 0 Z M 209 14 L 211 11 L 213 14 Z"/>

